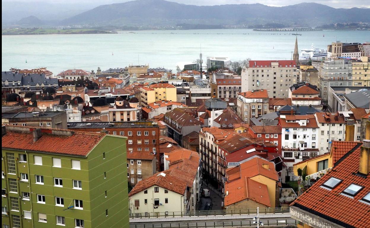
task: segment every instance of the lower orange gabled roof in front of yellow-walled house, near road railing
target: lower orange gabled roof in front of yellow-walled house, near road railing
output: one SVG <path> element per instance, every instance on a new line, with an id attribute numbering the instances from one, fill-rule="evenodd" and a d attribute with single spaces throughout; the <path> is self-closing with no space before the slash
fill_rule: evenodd
<path id="1" fill-rule="evenodd" d="M 231 182 L 226 181 L 225 190 L 228 191 L 224 198 L 225 206 L 248 199 L 271 207 L 267 186 L 248 177 Z"/>

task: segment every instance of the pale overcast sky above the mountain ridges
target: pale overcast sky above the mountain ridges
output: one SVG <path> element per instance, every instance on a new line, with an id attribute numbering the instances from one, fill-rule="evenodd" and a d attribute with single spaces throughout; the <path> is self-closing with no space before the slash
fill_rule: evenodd
<path id="1" fill-rule="evenodd" d="M 4 1 L 25 1 L 25 2 L 40 2 L 46 0 L 2 0 Z M 128 0 L 79 0 L 79 3 L 85 3 L 86 5 L 98 6 L 102 4 L 121 3 Z M 168 0 L 177 3 L 198 5 L 198 6 L 212 6 L 212 5 L 223 5 L 223 4 L 253 4 L 261 3 L 268 6 L 287 6 L 298 4 L 302 2 L 315 2 L 324 4 L 334 8 L 352 8 L 352 7 L 367 7 L 370 8 L 370 0 Z M 53 0 L 54 3 L 75 3 L 75 0 Z"/>

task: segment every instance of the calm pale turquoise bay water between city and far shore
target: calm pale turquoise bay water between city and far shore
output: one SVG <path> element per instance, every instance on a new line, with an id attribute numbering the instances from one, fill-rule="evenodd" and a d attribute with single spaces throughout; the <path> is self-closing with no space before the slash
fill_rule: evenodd
<path id="1" fill-rule="evenodd" d="M 296 32 L 293 32 L 296 33 Z M 302 31 L 299 50 L 326 49 L 332 41 L 370 41 L 370 31 Z M 324 35 L 324 37 L 323 37 Z M 149 64 L 175 70 L 179 62 L 207 56 L 239 59 L 291 59 L 295 35 L 249 29 L 135 31 L 119 34 L 3 35 L 1 70 L 47 67 L 54 74 L 76 68 L 96 71 Z M 112 55 L 113 53 L 113 55 Z M 26 63 L 27 59 L 27 63 Z"/>

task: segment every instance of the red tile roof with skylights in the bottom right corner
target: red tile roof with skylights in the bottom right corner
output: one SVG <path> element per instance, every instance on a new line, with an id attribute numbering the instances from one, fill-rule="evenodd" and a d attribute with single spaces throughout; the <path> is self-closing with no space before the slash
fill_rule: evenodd
<path id="1" fill-rule="evenodd" d="M 367 174 L 366 178 L 357 175 L 361 147 L 352 150 L 344 155 L 331 171 L 300 195 L 291 206 L 325 218 L 342 227 L 369 227 L 369 203 L 361 200 L 370 192 L 370 174 Z M 332 190 L 322 187 L 322 184 L 331 177 L 343 181 Z M 343 190 L 350 184 L 358 184 L 364 188 L 355 196 L 350 197 L 343 194 Z"/>

